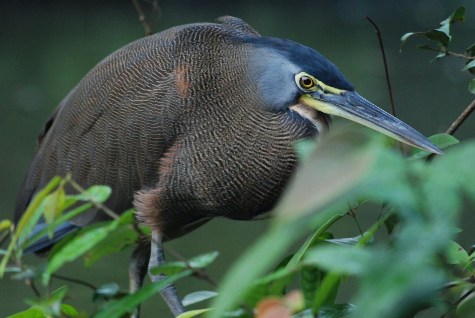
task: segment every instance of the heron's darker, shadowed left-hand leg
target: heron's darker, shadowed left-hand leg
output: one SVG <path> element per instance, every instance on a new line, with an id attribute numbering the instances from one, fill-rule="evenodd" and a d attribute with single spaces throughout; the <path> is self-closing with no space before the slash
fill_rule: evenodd
<path id="1" fill-rule="evenodd" d="M 135 251 L 133 251 L 129 262 L 129 291 L 131 294 L 142 288 L 143 278 L 147 274 L 149 259 L 150 242 L 141 240 Z M 140 304 L 130 317 L 140 317 Z"/>

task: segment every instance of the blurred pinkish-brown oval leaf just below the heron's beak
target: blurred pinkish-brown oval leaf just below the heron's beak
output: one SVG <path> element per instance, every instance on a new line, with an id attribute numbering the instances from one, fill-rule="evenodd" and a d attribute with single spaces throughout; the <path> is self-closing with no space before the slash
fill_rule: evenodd
<path id="1" fill-rule="evenodd" d="M 364 145 L 375 136 L 373 131 L 351 126 L 320 140 L 311 157 L 298 167 L 298 178 L 291 180 L 281 196 L 274 210 L 277 222 L 309 215 L 361 181 L 375 161 L 374 151 Z"/>

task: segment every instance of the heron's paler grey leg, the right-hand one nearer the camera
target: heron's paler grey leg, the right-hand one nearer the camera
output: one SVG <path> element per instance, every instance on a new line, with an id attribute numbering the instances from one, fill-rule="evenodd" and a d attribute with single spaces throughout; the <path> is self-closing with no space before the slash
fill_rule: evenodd
<path id="1" fill-rule="evenodd" d="M 150 272 L 150 269 L 166 263 L 165 255 L 163 254 L 163 249 L 161 248 L 162 239 L 163 235 L 158 230 L 152 230 L 152 249 L 150 253 L 150 261 L 148 264 L 148 268 L 150 279 L 153 282 L 167 278 L 165 274 L 153 275 Z M 185 308 L 181 303 L 180 297 L 178 297 L 177 295 L 177 291 L 174 285 L 168 285 L 162 290 L 160 290 L 160 295 L 163 300 L 165 300 L 175 317 L 185 312 Z"/>

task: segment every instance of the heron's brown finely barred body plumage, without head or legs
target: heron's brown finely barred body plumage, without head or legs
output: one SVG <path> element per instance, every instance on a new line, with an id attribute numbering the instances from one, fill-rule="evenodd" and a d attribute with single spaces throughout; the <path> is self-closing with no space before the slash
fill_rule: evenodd
<path id="1" fill-rule="evenodd" d="M 258 33 L 240 19 L 218 22 L 142 38 L 96 65 L 41 131 L 16 220 L 67 173 L 83 187 L 112 187 L 107 206 L 135 206 L 167 239 L 215 216 L 271 209 L 297 163 L 293 142 L 317 131 L 294 110 L 263 106 L 247 71 L 252 47 L 241 40 Z M 313 112 L 328 127 L 330 117 Z M 72 222 L 104 218 L 92 209 Z"/>

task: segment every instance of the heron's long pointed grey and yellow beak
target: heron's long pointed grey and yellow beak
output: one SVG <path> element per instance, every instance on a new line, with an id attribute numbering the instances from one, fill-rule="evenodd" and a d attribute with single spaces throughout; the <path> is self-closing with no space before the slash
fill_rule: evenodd
<path id="1" fill-rule="evenodd" d="M 356 92 L 342 91 L 340 94 L 333 94 L 316 91 L 302 95 L 299 101 L 314 107 L 318 111 L 358 122 L 408 145 L 443 154 L 426 137 L 396 117 L 368 102 Z"/>

